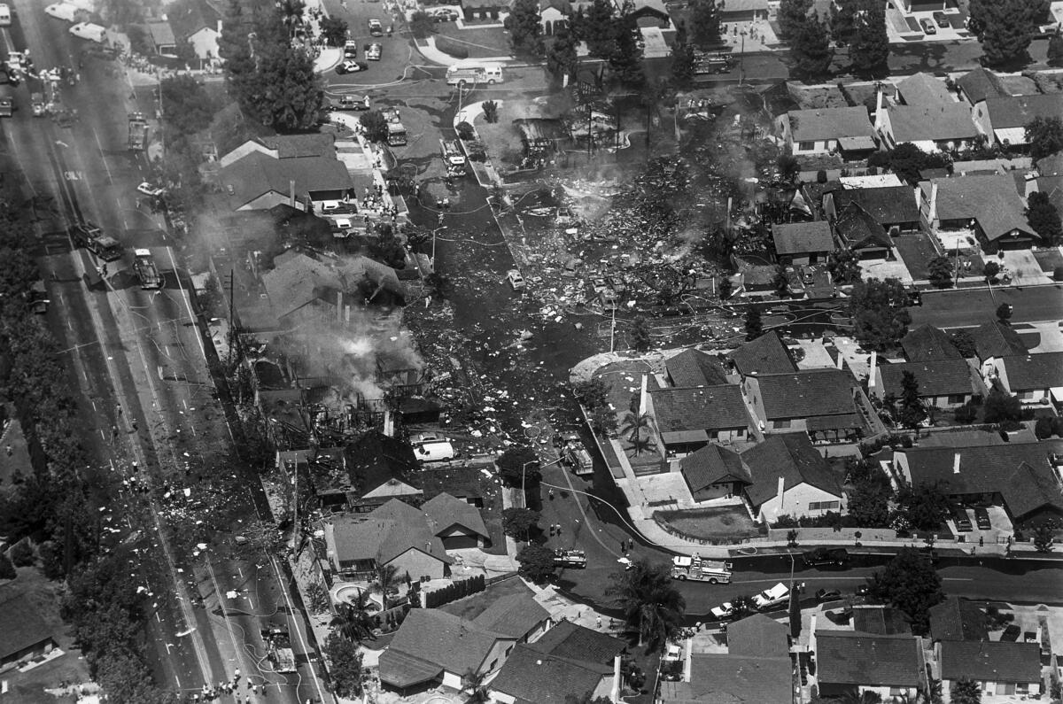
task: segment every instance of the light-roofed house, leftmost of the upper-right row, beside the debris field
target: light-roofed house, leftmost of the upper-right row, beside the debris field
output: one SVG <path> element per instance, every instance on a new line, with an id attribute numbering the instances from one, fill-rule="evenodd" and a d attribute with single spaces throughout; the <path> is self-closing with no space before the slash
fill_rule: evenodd
<path id="1" fill-rule="evenodd" d="M 878 146 L 863 105 L 794 110 L 780 115 L 775 124 L 794 156 L 839 151 L 846 156 L 863 155 Z"/>

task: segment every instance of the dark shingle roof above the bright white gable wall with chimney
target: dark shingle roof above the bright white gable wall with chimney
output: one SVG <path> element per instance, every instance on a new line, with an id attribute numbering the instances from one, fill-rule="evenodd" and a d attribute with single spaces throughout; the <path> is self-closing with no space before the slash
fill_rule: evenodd
<path id="1" fill-rule="evenodd" d="M 753 480 L 745 493 L 754 507 L 776 496 L 780 476 L 784 491 L 799 484 L 809 484 L 833 496 L 842 496 L 838 476 L 804 433 L 770 435 L 760 445 L 743 452 L 741 457 Z"/>

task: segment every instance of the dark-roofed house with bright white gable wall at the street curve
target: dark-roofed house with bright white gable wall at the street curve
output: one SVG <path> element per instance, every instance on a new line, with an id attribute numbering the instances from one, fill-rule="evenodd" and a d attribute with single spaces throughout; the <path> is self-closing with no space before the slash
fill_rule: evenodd
<path id="1" fill-rule="evenodd" d="M 741 458 L 750 480 L 745 498 L 757 521 L 841 510 L 841 482 L 804 434 L 773 435 Z"/>

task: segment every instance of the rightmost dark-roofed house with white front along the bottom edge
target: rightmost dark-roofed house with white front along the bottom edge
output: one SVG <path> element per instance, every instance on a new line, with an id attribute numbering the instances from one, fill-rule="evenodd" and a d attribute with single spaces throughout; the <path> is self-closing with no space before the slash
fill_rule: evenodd
<path id="1" fill-rule="evenodd" d="M 1041 697 L 1041 646 L 1001 640 L 945 640 L 934 646 L 941 693 L 960 680 L 977 682 L 983 697 Z"/>

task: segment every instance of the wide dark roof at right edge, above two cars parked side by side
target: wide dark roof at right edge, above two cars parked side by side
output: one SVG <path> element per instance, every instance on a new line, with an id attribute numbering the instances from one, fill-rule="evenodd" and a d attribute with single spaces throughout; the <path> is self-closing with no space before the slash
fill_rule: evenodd
<path id="1" fill-rule="evenodd" d="M 944 484 L 948 493 L 999 493 L 1015 520 L 1044 508 L 1063 512 L 1049 456 L 1063 454 L 1063 440 L 1007 442 L 967 448 L 900 450 L 913 486 Z M 960 471 L 954 471 L 960 455 Z"/>

